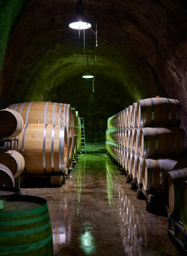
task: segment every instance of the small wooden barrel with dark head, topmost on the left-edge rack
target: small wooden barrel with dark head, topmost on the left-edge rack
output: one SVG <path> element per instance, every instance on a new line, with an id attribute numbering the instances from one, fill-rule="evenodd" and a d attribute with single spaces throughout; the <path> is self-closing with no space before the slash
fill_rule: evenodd
<path id="1" fill-rule="evenodd" d="M 24 121 L 21 115 L 12 109 L 0 110 L 0 136 L 15 137 L 18 136 L 24 127 Z"/>

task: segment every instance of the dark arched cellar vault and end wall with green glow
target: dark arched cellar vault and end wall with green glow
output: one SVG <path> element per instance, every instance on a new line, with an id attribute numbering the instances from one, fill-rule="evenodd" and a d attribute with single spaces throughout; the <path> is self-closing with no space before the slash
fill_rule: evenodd
<path id="1" fill-rule="evenodd" d="M 95 91 L 83 79 L 83 33 L 68 27 L 76 1 L 1 1 L 1 108 L 70 103 L 85 118 L 88 151 L 103 152 L 107 118 L 138 99 L 178 99 L 187 131 L 186 1 L 99 1 Z M 95 31 L 96 0 L 85 0 Z M 95 34 L 85 30 L 94 69 Z"/>

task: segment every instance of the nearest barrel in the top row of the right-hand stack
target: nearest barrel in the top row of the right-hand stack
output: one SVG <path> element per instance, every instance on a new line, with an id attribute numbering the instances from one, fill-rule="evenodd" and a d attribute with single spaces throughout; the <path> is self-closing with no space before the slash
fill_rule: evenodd
<path id="1" fill-rule="evenodd" d="M 137 102 L 137 127 L 179 126 L 180 122 L 181 104 L 179 100 L 156 97 Z"/>

